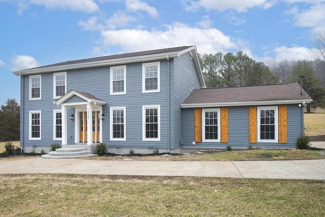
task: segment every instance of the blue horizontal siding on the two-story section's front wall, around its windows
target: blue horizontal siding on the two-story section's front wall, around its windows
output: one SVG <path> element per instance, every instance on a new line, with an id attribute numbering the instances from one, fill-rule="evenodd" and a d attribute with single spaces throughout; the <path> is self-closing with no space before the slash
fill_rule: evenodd
<path id="1" fill-rule="evenodd" d="M 173 59 L 170 59 L 173 62 Z M 171 72 L 168 60 L 160 60 L 160 92 L 142 93 L 142 63 L 126 65 L 126 94 L 110 95 L 110 67 L 96 67 L 81 70 L 67 71 L 67 92 L 71 89 L 88 92 L 100 98 L 107 104 L 103 106 L 105 120 L 103 120 L 103 142 L 107 147 L 123 148 L 168 148 L 170 129 L 170 109 L 168 106 Z M 53 99 L 53 73 L 44 73 L 41 76 L 41 100 L 29 100 L 29 77 L 24 77 L 23 95 L 23 142 L 26 146 L 50 146 L 53 140 L 53 110 L 60 110 Z M 66 103 L 84 102 L 73 96 Z M 142 106 L 160 106 L 160 141 L 142 141 Z M 110 141 L 110 107 L 126 107 L 126 141 Z M 29 111 L 41 111 L 41 140 L 29 140 Z M 74 108 L 67 107 L 68 144 L 75 142 L 75 121 L 69 116 L 74 114 Z"/>

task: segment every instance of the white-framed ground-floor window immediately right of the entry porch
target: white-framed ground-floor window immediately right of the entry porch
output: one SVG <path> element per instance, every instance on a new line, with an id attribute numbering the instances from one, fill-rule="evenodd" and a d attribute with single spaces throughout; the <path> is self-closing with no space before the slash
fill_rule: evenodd
<path id="1" fill-rule="evenodd" d="M 125 107 L 111 107 L 110 108 L 110 140 L 125 141 Z"/>

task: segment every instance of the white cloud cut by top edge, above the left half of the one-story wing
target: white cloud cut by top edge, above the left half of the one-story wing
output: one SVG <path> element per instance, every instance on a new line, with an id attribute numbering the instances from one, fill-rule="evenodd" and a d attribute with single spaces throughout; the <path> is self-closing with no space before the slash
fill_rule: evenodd
<path id="1" fill-rule="evenodd" d="M 265 1 L 265 0 L 199 0 L 199 1 L 187 1 L 188 5 L 185 6 L 185 10 L 194 11 L 200 7 L 204 7 L 207 11 L 217 10 L 235 10 L 237 12 L 246 12 L 249 8 L 253 7 L 263 7 L 267 9 L 274 4 L 274 1 Z"/>

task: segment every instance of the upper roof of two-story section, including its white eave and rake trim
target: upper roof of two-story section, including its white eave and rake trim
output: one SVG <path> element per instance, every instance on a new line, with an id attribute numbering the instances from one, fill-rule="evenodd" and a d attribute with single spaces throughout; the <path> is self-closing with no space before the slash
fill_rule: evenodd
<path id="1" fill-rule="evenodd" d="M 41 66 L 32 69 L 20 70 L 13 73 L 15 75 L 22 76 L 22 75 L 32 75 L 32 74 L 40 74 L 40 73 L 47 73 L 47 72 L 85 69 L 85 68 L 100 67 L 100 66 L 113 66 L 118 64 L 136 63 L 140 61 L 155 61 L 159 59 L 176 58 L 186 52 L 189 52 L 192 55 L 198 73 L 198 77 L 200 79 L 201 86 L 205 87 L 205 82 L 201 71 L 199 55 L 196 46 L 173 47 L 173 48 L 166 48 L 166 49 L 148 50 L 148 51 L 141 51 L 141 52 L 134 52 L 134 53 L 116 54 L 110 56 L 65 61 L 62 63 L 56 63 L 56 64 Z"/>

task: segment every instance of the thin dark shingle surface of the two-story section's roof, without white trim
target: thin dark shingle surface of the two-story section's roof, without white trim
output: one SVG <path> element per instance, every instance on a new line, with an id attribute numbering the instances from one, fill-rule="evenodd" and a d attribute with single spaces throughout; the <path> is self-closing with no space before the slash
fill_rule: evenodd
<path id="1" fill-rule="evenodd" d="M 162 53 L 180 52 L 180 51 L 186 50 L 190 47 L 192 47 L 192 46 L 173 47 L 173 48 L 166 48 L 166 49 L 141 51 L 141 52 L 135 52 L 135 53 L 124 53 L 124 54 L 116 54 L 116 55 L 110 55 L 110 56 L 101 56 L 101 57 L 94 57 L 94 58 L 88 58 L 88 59 L 78 59 L 78 60 L 65 61 L 62 63 L 36 67 L 36 68 L 32 68 L 32 69 L 40 69 L 40 68 L 55 67 L 55 66 L 66 66 L 66 65 L 71 65 L 71 64 L 89 63 L 92 61 L 101 61 L 101 60 L 120 59 L 120 58 L 127 58 L 127 57 L 162 54 Z"/>

